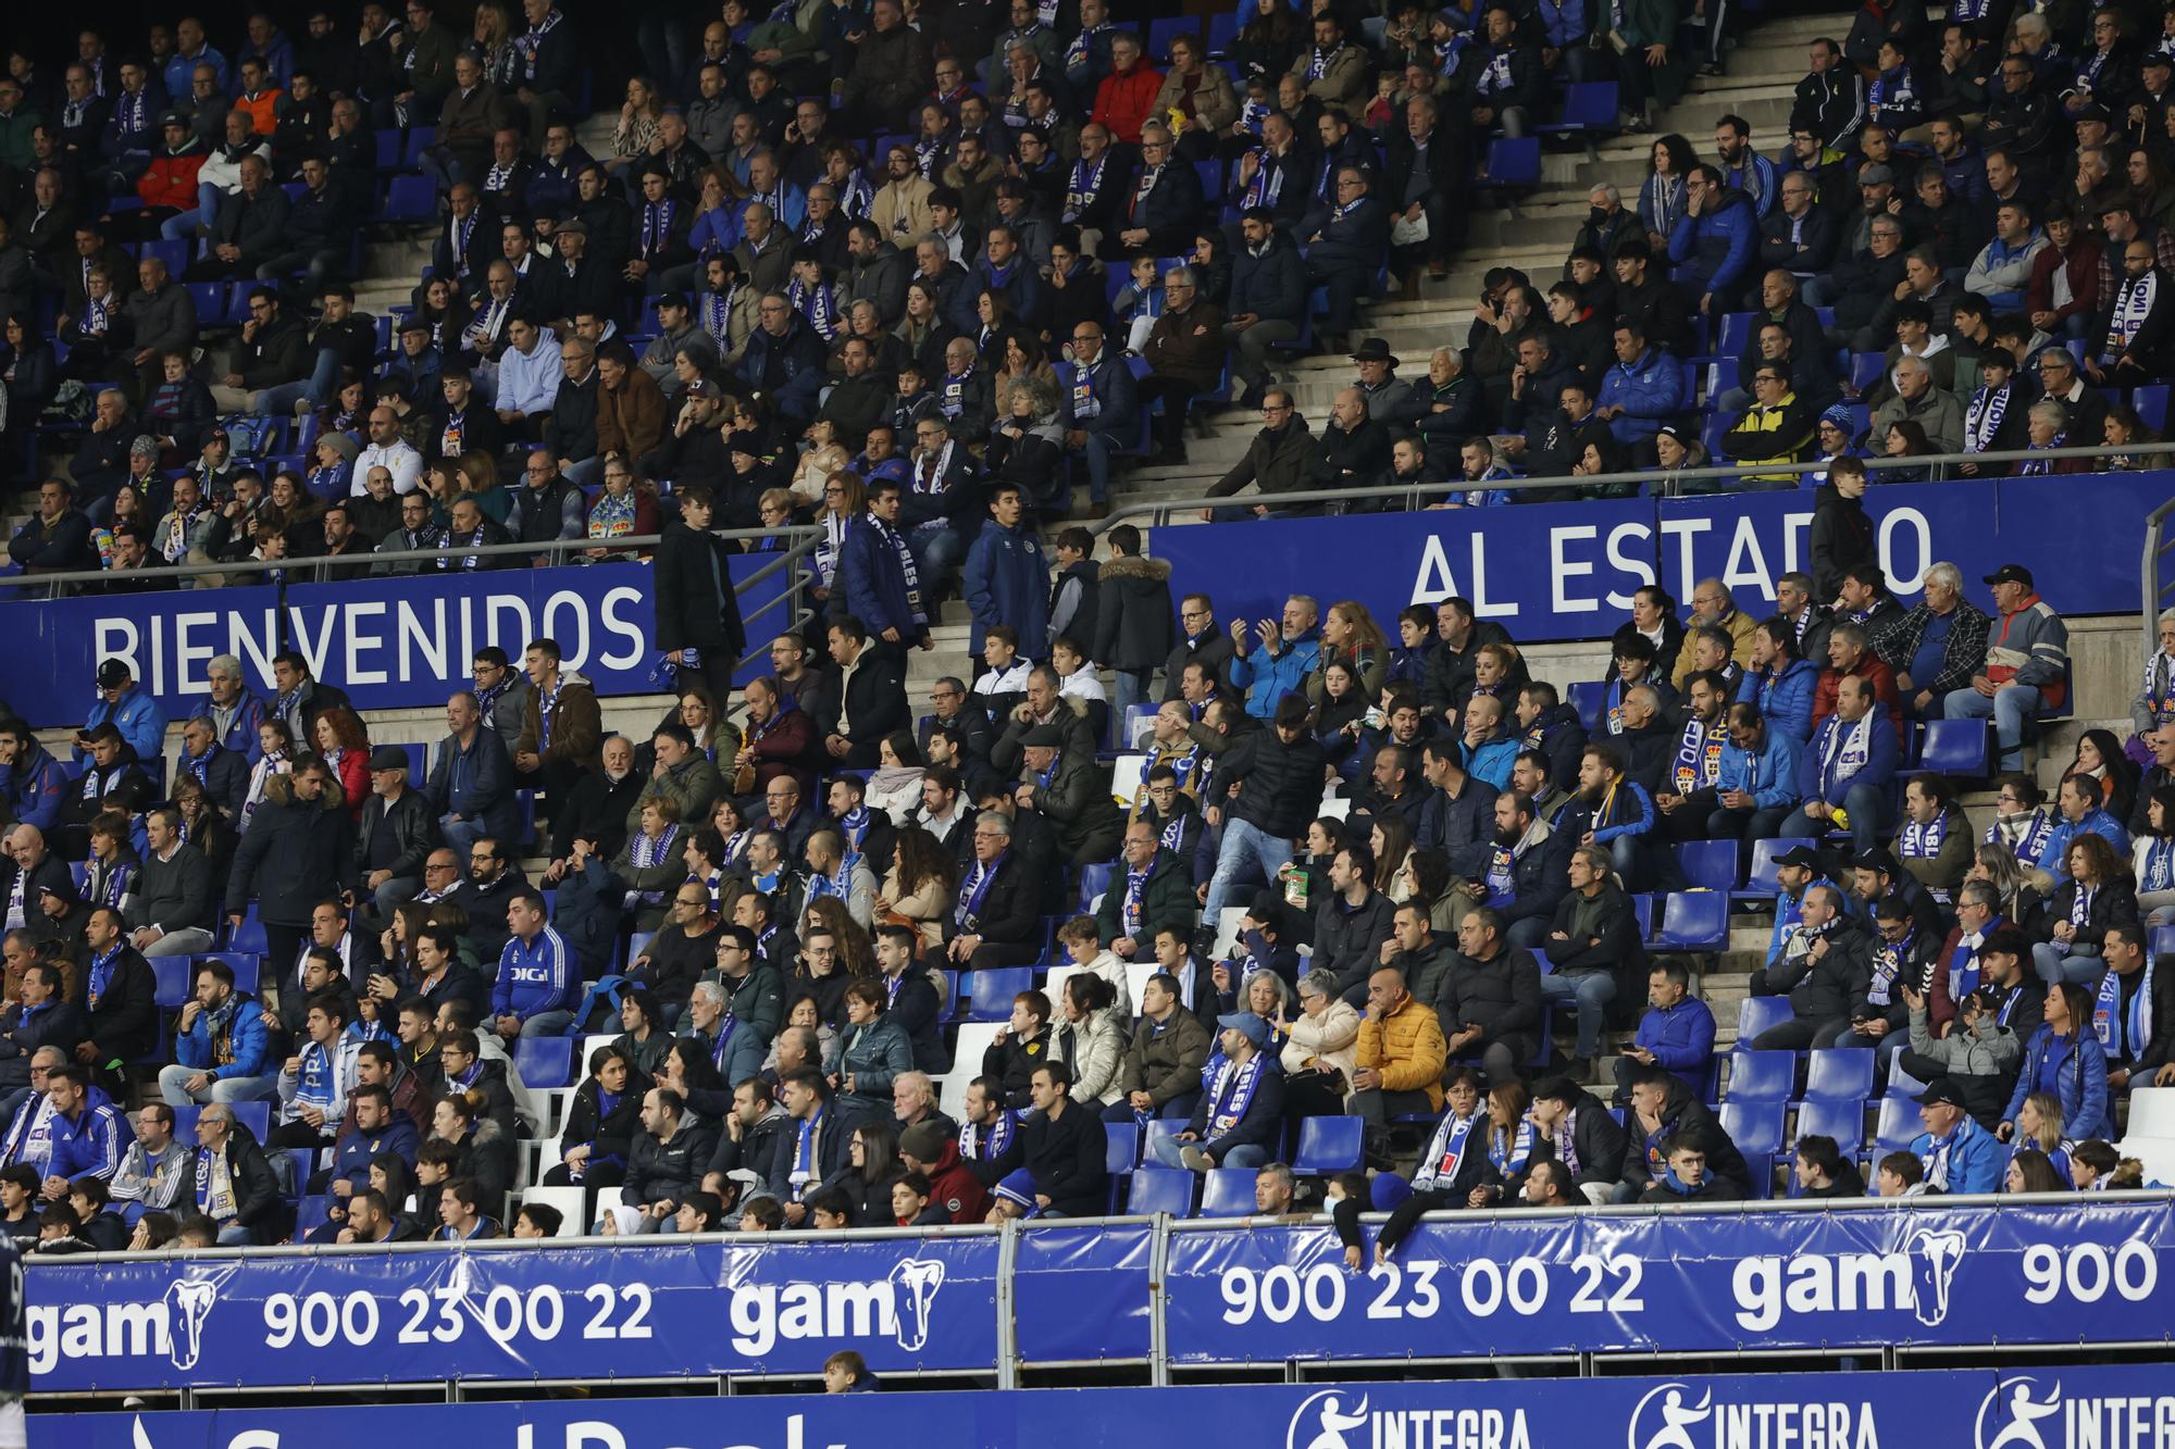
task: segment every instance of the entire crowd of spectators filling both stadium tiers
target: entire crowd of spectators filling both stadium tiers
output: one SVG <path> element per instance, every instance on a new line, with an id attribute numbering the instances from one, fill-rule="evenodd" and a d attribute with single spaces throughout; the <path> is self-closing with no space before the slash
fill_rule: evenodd
<path id="1" fill-rule="evenodd" d="M 2088 731 L 2049 805 L 2025 748 L 2073 688 L 2060 581 L 1940 564 L 1905 607 L 1864 494 L 1868 455 L 2127 468 L 2151 442 L 2175 44 L 2112 9 L 2090 41 L 2081 13 L 1988 15 L 1860 11 L 1775 157 L 1733 115 L 1714 161 L 1657 137 L 1631 205 L 1594 187 L 1564 278 L 1490 274 L 1425 383 L 1353 344 L 1357 305 L 1446 274 L 1470 185 L 1564 87 L 1614 83 L 1599 128 L 1642 128 L 1718 70 L 1718 13 L 1264 0 L 1157 70 L 1103 0 L 729 0 L 644 20 L 602 159 L 548 0 L 487 2 L 468 39 L 428 0 L 359 35 L 320 11 L 307 41 L 259 15 L 231 67 L 194 20 L 111 59 L 85 30 L 57 89 L 15 57 L 20 568 L 139 590 L 639 553 L 679 696 L 607 733 L 539 637 L 478 651 L 420 757 L 298 653 L 263 696 L 213 659 L 172 770 L 120 659 L 72 759 L 0 725 L 0 1225 L 63 1251 L 492 1236 L 552 1129 L 542 1186 L 611 1234 L 1101 1214 L 1127 1127 L 1151 1164 L 1259 1168 L 1270 1210 L 1312 1188 L 1281 1157 L 1325 1116 L 1362 1123 L 1335 1201 L 1414 1203 L 1379 1253 L 1425 1208 L 1766 1197 L 1766 1153 L 1707 1107 L 1712 1012 L 1640 916 L 1701 842 L 1788 842 L 1753 979 L 1786 1012 L 1740 1046 L 1873 1049 L 1923 1086 L 1881 1192 L 2121 1181 L 2114 1101 L 2175 1081 L 2149 949 L 2175 618 L 2134 735 Z M 402 220 L 433 259 L 394 329 L 355 311 L 352 237 Z M 1275 372 L 1307 348 L 1355 366 L 1320 433 Z M 1107 511 L 1231 385 L 1264 429 L 1218 518 L 1818 461 L 1810 572 L 1764 620 L 1720 581 L 1640 590 L 1586 707 L 1462 598 L 1222 620 L 1138 529 L 1059 524 L 1074 455 Z M 1492 487 L 1518 474 L 1566 483 Z M 796 520 L 816 616 L 735 688 L 726 555 Z M 907 661 L 953 594 L 974 657 L 918 720 Z M 1135 714 L 1120 803 L 1103 753 Z M 1992 725 L 1984 840 L 1912 766 L 1936 720 Z M 1018 983 L 1009 1018 L 961 1062 L 990 981 Z M 542 1101 L 522 1062 L 592 1033 Z M 1864 1190 L 1857 1153 L 1801 1138 L 1792 1190 Z"/>

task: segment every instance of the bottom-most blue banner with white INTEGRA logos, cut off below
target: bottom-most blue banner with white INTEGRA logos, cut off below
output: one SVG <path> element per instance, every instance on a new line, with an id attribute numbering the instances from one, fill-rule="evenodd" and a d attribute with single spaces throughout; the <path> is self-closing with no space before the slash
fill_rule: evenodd
<path id="1" fill-rule="evenodd" d="M 33 1414 L 30 1449 L 2164 1449 L 2175 1369 Z"/>

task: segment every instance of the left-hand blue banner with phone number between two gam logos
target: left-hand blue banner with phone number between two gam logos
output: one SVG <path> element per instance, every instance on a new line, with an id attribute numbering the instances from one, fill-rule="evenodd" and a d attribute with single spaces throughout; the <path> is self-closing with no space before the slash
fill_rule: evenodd
<path id="1" fill-rule="evenodd" d="M 30 1266 L 33 1392 L 996 1362 L 996 1234 Z"/>

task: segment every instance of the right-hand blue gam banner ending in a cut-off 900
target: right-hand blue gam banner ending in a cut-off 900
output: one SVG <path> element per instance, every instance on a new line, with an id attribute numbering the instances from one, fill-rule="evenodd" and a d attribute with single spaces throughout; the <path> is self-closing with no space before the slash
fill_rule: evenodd
<path id="1" fill-rule="evenodd" d="M 1329 1227 L 1170 1234 L 1172 1362 L 2158 1342 L 2164 1201 L 1427 1221 L 1344 1268 Z"/>

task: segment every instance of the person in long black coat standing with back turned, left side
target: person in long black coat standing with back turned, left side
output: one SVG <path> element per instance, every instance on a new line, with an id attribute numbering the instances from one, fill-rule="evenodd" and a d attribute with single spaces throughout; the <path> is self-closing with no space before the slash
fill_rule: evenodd
<path id="1" fill-rule="evenodd" d="M 281 785 L 285 781 L 285 785 Z M 355 825 L 339 790 L 326 790 L 331 770 L 309 759 L 274 777 L 235 846 L 226 881 L 226 918 L 239 927 L 250 901 L 265 927 L 265 949 L 285 966 L 302 951 L 318 901 L 348 886 Z"/>

